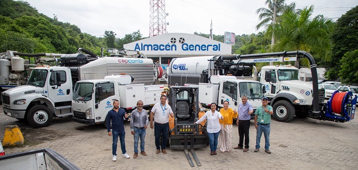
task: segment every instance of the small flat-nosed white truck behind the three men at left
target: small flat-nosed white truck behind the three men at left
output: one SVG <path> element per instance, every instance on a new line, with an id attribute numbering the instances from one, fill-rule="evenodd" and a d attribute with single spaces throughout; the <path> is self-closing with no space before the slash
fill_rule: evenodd
<path id="1" fill-rule="evenodd" d="M 164 91 L 163 84 L 130 84 L 129 75 L 106 76 L 99 80 L 77 81 L 72 96 L 74 119 L 83 124 L 100 124 L 107 126 L 106 117 L 113 109 L 113 100 L 119 100 L 119 107 L 129 116 L 136 109 L 137 101 L 142 100 L 143 109 L 150 111 L 155 103 L 160 102 Z"/>

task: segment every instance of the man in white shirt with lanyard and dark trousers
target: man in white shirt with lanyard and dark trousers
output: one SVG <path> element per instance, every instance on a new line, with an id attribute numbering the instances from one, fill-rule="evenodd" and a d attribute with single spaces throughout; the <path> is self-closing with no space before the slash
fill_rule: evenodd
<path id="1" fill-rule="evenodd" d="M 161 102 L 154 104 L 150 112 L 150 128 L 154 128 L 156 154 L 161 152 L 162 147 L 163 154 L 167 154 L 165 146 L 167 146 L 168 132 L 169 132 L 169 115 L 174 117 L 174 113 L 171 110 L 169 104 L 166 103 L 167 96 L 161 96 Z M 155 116 L 155 124 L 153 125 L 153 116 Z M 162 136 L 162 141 L 160 138 Z M 161 144 L 161 145 L 160 145 Z"/>

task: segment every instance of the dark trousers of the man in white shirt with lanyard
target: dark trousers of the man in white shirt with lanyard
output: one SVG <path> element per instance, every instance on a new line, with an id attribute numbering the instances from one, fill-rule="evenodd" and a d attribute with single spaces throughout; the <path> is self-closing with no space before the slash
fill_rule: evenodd
<path id="1" fill-rule="evenodd" d="M 165 150 L 165 146 L 167 146 L 167 141 L 168 141 L 168 130 L 169 130 L 169 123 L 165 123 L 165 124 L 154 123 L 154 137 L 155 137 L 155 146 L 157 150 L 160 150 L 161 147 L 162 150 Z M 161 136 L 162 136 L 162 141 L 160 141 Z M 161 142 L 162 145 L 160 145 Z"/>

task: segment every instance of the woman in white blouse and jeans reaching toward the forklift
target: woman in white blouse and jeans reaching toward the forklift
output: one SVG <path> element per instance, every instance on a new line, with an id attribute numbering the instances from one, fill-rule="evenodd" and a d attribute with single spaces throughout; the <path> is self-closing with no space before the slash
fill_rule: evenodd
<path id="1" fill-rule="evenodd" d="M 202 118 L 194 122 L 197 124 L 208 118 L 208 126 L 206 129 L 210 140 L 210 155 L 216 155 L 217 139 L 221 131 L 219 119 L 223 119 L 220 112 L 216 111 L 216 107 L 216 103 L 211 103 L 211 111 L 206 112 Z"/>

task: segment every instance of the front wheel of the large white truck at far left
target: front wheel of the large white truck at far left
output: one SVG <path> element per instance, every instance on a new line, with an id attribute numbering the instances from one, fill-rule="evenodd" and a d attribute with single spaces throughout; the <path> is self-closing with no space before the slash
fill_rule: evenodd
<path id="1" fill-rule="evenodd" d="M 29 110 L 27 120 L 34 128 L 41 128 L 51 124 L 53 114 L 50 109 L 44 105 L 35 105 Z"/>

